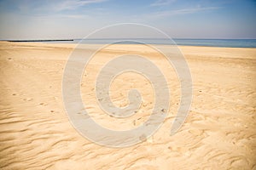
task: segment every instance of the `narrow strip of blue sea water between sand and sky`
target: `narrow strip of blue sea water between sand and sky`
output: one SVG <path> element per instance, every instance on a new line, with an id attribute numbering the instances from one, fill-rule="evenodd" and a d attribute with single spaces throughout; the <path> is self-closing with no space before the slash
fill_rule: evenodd
<path id="1" fill-rule="evenodd" d="M 256 39 L 186 39 L 174 38 L 119 38 L 119 39 L 74 39 L 74 41 L 63 41 L 63 43 L 119 43 L 119 44 L 163 44 L 163 45 L 183 45 L 183 46 L 207 46 L 207 47 L 227 47 L 227 48 L 256 48 Z M 60 43 L 60 42 L 55 42 Z"/>

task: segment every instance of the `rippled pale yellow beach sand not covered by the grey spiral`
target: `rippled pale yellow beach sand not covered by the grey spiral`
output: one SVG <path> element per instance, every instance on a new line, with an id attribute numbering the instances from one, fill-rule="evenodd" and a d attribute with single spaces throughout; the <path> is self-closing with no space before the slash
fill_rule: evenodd
<path id="1" fill-rule="evenodd" d="M 125 73 L 111 86 L 113 102 L 127 105 L 127 90 L 138 88 L 143 96 L 140 111 L 119 120 L 99 109 L 93 81 L 113 55 L 145 54 L 160 65 L 172 91 L 166 121 L 152 138 L 113 149 L 84 139 L 68 122 L 61 78 L 73 47 L 0 42 L 1 169 L 256 168 L 256 48 L 180 47 L 193 78 L 193 102 L 186 122 L 173 136 L 169 133 L 180 89 L 172 67 L 139 45 L 116 45 L 102 51 L 91 60 L 81 82 L 86 109 L 102 126 L 115 130 L 137 127 L 154 105 L 147 79 Z"/>

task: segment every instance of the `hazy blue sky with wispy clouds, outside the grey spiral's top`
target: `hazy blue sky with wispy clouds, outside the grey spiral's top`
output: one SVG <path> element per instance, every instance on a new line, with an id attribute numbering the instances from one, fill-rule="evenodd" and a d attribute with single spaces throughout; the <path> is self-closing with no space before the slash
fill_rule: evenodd
<path id="1" fill-rule="evenodd" d="M 82 38 L 119 23 L 154 26 L 172 38 L 256 38 L 256 1 L 0 0 L 2 40 Z M 129 27 L 106 34 L 123 31 Z"/>

